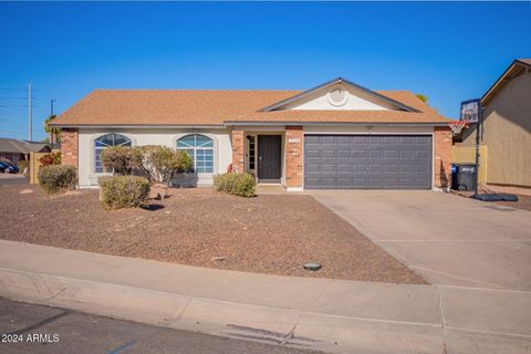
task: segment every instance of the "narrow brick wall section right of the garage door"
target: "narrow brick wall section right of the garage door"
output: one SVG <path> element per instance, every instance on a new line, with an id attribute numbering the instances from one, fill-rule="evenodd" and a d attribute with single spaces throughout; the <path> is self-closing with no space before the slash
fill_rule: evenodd
<path id="1" fill-rule="evenodd" d="M 435 181 L 439 188 L 451 184 L 451 131 L 449 127 L 435 127 Z"/>

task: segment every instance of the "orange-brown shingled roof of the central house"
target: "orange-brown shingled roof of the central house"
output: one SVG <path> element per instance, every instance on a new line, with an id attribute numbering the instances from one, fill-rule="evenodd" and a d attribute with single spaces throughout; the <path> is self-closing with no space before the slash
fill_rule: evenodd
<path id="1" fill-rule="evenodd" d="M 379 91 L 421 112 L 258 112 L 301 91 L 95 90 L 53 122 L 84 125 L 223 125 L 225 122 L 442 123 L 449 119 L 407 91 Z"/>

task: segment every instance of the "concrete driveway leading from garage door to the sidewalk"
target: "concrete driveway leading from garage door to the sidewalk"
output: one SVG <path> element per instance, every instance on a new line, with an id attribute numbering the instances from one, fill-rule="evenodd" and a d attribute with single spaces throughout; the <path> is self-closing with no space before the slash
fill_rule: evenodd
<path id="1" fill-rule="evenodd" d="M 445 192 L 312 191 L 433 284 L 531 291 L 531 212 Z"/>

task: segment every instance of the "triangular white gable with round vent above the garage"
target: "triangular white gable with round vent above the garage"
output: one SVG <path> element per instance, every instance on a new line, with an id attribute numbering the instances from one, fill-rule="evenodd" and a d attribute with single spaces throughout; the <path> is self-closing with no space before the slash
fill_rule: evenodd
<path id="1" fill-rule="evenodd" d="M 419 112 L 403 102 L 357 85 L 343 77 L 269 105 L 260 112 L 272 111 L 405 111 Z"/>

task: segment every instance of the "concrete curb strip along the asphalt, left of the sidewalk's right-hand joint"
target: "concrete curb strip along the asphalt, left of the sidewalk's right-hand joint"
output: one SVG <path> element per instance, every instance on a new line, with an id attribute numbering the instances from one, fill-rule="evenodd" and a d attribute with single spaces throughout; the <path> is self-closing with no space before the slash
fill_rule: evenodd
<path id="1" fill-rule="evenodd" d="M 0 268 L 0 296 L 331 353 L 441 353 L 438 324 L 339 316 Z"/>

